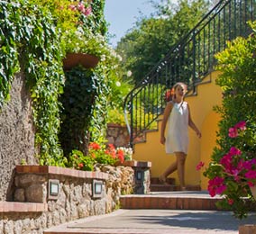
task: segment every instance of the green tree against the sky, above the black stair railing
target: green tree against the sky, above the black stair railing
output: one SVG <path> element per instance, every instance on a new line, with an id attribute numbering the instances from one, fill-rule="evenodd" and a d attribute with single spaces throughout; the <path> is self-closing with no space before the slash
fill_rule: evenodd
<path id="1" fill-rule="evenodd" d="M 156 16 L 142 17 L 117 45 L 123 57 L 123 69 L 133 71 L 138 84 L 178 40 L 181 40 L 206 14 L 203 0 L 161 2 L 154 5 Z"/>

